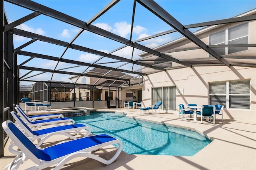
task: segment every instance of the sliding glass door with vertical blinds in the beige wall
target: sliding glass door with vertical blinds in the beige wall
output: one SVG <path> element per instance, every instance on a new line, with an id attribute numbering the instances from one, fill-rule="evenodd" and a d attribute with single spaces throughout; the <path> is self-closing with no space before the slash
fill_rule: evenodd
<path id="1" fill-rule="evenodd" d="M 172 86 L 152 88 L 151 97 L 152 105 L 155 105 L 158 101 L 162 101 L 160 109 L 175 110 L 175 87 Z"/>

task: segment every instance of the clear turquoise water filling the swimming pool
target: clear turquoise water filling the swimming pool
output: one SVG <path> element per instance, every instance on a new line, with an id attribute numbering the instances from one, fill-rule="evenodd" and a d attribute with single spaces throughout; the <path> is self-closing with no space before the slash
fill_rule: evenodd
<path id="1" fill-rule="evenodd" d="M 193 156 L 210 143 L 196 132 L 127 118 L 122 113 L 96 112 L 72 119 L 92 128 L 93 134 L 121 140 L 122 150 L 128 154 Z"/>

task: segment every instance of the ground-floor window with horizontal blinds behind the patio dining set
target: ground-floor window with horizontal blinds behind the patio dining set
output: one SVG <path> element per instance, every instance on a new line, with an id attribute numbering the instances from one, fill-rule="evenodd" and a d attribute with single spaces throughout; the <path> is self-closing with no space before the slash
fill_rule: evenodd
<path id="1" fill-rule="evenodd" d="M 210 105 L 250 109 L 250 80 L 210 83 L 209 99 Z"/>

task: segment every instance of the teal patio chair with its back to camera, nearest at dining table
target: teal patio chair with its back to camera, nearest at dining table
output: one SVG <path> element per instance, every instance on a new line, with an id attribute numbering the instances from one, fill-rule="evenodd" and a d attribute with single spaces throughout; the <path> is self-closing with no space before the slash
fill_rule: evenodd
<path id="1" fill-rule="evenodd" d="M 202 105 L 201 110 L 196 111 L 196 115 L 200 115 L 201 121 L 196 121 L 203 123 L 203 117 L 206 118 L 207 122 L 215 124 L 215 106 L 213 105 Z M 209 121 L 210 118 L 210 121 Z M 213 119 L 213 121 L 211 121 Z"/>

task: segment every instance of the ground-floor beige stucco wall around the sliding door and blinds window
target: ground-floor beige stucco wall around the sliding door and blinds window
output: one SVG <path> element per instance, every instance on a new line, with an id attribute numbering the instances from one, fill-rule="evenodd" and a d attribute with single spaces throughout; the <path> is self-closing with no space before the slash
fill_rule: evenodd
<path id="1" fill-rule="evenodd" d="M 256 68 L 207 66 L 173 69 L 144 76 L 142 99 L 145 106 L 151 105 L 152 87 L 176 87 L 176 111 L 178 105 L 196 103 L 208 105 L 208 83 L 216 81 L 251 80 L 251 109 L 224 109 L 224 119 L 236 119 L 256 122 Z M 183 88 L 183 95 L 177 91 Z"/>

